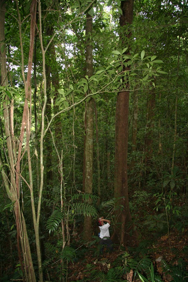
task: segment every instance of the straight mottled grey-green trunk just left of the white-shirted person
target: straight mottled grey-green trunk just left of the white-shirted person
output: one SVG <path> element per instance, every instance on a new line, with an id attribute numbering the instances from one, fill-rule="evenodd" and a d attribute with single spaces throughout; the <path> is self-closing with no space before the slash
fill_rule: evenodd
<path id="1" fill-rule="evenodd" d="M 91 77 L 93 74 L 93 56 L 92 56 L 92 16 L 86 14 L 86 75 Z M 85 140 L 85 193 L 92 194 L 93 186 L 93 98 L 86 100 L 85 109 L 86 120 L 86 140 Z M 91 198 L 89 203 L 91 203 Z M 92 218 L 84 217 L 84 240 L 92 239 Z"/>

